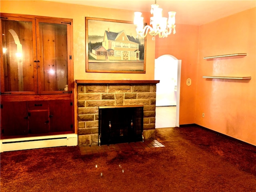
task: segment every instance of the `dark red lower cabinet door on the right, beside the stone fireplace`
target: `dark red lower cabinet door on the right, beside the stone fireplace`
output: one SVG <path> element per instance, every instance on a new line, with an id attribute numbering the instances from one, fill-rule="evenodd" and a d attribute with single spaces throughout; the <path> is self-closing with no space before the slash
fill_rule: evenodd
<path id="1" fill-rule="evenodd" d="M 64 132 L 73 131 L 71 100 L 49 101 L 50 131 Z"/>

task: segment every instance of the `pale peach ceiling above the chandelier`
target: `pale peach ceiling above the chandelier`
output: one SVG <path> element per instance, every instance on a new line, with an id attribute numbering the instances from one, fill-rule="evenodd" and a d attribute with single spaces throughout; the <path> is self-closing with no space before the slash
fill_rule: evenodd
<path id="1" fill-rule="evenodd" d="M 69 4 L 150 12 L 154 0 L 46 0 Z M 176 11 L 177 24 L 202 25 L 256 7 L 256 0 L 157 0 L 168 11 Z"/>

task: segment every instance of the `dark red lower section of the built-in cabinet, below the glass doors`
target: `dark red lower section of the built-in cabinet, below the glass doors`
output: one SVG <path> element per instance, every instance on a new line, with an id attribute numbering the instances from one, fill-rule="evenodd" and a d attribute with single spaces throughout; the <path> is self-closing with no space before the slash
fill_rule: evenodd
<path id="1" fill-rule="evenodd" d="M 2 102 L 2 136 L 74 132 L 71 100 Z"/>

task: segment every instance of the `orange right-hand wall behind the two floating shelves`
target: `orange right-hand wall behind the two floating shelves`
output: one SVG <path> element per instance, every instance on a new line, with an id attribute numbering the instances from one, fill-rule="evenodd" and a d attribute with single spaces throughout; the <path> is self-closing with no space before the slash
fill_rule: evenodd
<path id="1" fill-rule="evenodd" d="M 256 8 L 202 25 L 199 34 L 195 123 L 256 145 Z M 234 53 L 247 56 L 203 59 Z M 202 76 L 252 79 L 208 80 Z"/>

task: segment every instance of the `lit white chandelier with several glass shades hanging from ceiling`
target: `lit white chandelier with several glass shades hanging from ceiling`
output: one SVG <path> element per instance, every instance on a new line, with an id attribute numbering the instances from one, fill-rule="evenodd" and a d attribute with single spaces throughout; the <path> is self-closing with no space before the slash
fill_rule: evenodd
<path id="1" fill-rule="evenodd" d="M 167 20 L 167 17 L 162 17 L 162 8 L 159 8 L 159 5 L 155 4 L 151 5 L 150 13 L 153 14 L 152 17 L 150 17 L 150 24 L 152 25 L 146 25 L 144 27 L 143 17 L 141 16 L 141 12 L 134 12 L 134 24 L 136 27 L 136 32 L 139 36 L 142 38 L 146 37 L 146 35 L 149 33 L 153 36 L 152 40 L 155 39 L 155 36 L 158 35 L 160 38 L 167 37 L 170 35 L 173 31 L 173 34 L 175 34 L 175 14 L 176 12 L 170 11 L 168 12 L 169 17 Z"/>

